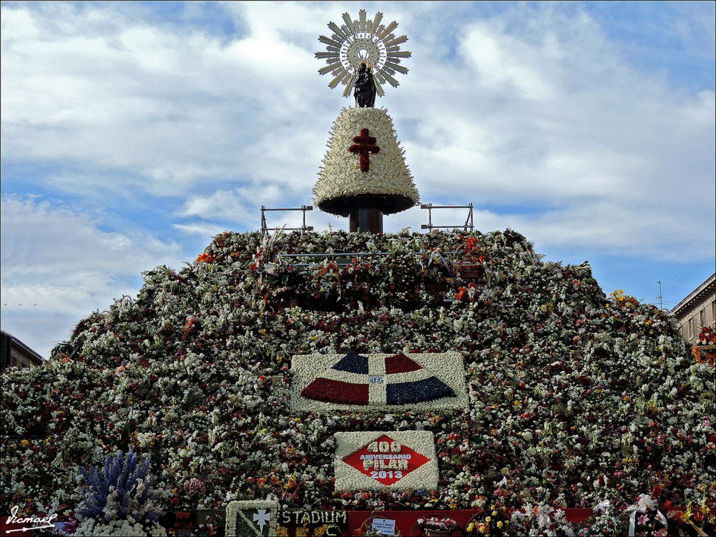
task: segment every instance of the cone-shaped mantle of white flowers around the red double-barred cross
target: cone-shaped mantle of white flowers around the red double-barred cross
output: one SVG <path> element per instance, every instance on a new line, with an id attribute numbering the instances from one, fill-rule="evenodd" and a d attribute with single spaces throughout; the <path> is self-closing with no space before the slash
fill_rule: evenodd
<path id="1" fill-rule="evenodd" d="M 368 129 L 380 147 L 370 155 L 369 171 L 360 169 L 359 158 L 348 148 L 362 129 Z M 349 107 L 341 110 L 333 125 L 329 149 L 314 186 L 314 203 L 352 195 L 404 195 L 416 204 L 420 194 L 415 188 L 398 144 L 393 122 L 382 108 Z"/>

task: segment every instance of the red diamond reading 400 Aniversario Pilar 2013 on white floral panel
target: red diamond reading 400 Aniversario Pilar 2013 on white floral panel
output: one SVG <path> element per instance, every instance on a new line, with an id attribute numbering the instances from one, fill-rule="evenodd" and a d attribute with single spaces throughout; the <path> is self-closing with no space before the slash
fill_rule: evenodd
<path id="1" fill-rule="evenodd" d="M 393 485 L 430 459 L 382 435 L 344 457 L 343 462 L 382 485 Z"/>

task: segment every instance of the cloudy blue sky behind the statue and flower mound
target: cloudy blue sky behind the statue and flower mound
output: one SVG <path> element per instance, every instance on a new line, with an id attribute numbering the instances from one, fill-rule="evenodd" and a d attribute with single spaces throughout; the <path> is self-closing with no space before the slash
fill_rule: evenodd
<path id="1" fill-rule="evenodd" d="M 714 272 L 712 1 L 4 1 L 2 329 L 48 356 L 142 271 L 258 228 L 262 204 L 310 204 L 352 105 L 318 36 L 359 9 L 410 39 L 377 105 L 423 203 L 472 202 L 480 231 L 589 260 L 606 293 L 658 303 L 661 281 L 672 307 Z"/>

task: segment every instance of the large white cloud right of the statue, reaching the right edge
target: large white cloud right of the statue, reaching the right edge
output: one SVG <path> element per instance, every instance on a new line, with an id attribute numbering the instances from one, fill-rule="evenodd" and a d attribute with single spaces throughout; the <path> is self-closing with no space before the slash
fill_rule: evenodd
<path id="1" fill-rule="evenodd" d="M 546 246 L 713 256 L 712 205 L 683 192 L 686 177 L 695 193 L 714 191 L 711 90 L 690 94 L 632 69 L 594 19 L 566 21 L 558 9 L 524 25 L 468 22 L 458 51 L 465 69 L 422 69 L 426 91 L 392 111 L 417 122 L 404 145 L 423 201 L 542 205 L 538 216 L 498 213 L 496 227 Z"/>

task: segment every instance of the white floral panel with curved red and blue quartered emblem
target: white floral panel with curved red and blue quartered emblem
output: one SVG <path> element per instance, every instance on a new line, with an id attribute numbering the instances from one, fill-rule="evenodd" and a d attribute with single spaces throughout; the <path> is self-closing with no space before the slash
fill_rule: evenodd
<path id="1" fill-rule="evenodd" d="M 291 359 L 295 410 L 460 409 L 468 405 L 456 352 L 305 354 Z"/>

